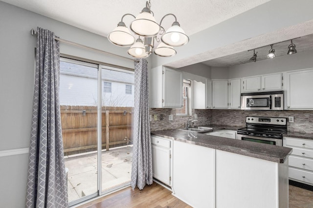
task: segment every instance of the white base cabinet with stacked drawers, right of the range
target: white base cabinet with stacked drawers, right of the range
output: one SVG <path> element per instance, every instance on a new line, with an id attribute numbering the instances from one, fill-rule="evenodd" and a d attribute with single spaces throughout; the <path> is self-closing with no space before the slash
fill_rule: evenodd
<path id="1" fill-rule="evenodd" d="M 292 148 L 289 178 L 313 186 L 313 140 L 284 137 L 283 146 Z"/>

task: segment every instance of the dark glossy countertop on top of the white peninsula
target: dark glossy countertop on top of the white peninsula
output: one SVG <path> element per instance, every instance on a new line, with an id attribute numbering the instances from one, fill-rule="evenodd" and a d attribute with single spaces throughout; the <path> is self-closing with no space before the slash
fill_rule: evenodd
<path id="1" fill-rule="evenodd" d="M 217 125 L 215 126 L 217 127 Z M 214 127 L 214 125 L 207 125 L 207 127 Z M 226 130 L 231 130 L 228 128 L 229 126 L 226 127 Z M 287 147 L 229 139 L 180 129 L 155 131 L 151 132 L 151 134 L 164 138 L 174 139 L 180 142 L 200 145 L 216 150 L 233 152 L 236 154 L 242 154 L 276 163 L 284 163 L 292 151 L 291 148 Z"/>

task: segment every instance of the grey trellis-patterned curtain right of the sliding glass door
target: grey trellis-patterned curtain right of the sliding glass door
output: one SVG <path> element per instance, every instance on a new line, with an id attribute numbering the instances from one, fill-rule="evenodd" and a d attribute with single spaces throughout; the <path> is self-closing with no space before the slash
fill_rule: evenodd
<path id="1" fill-rule="evenodd" d="M 134 87 L 134 146 L 131 185 L 143 189 L 152 184 L 152 152 L 149 120 L 147 60 L 138 59 Z"/>

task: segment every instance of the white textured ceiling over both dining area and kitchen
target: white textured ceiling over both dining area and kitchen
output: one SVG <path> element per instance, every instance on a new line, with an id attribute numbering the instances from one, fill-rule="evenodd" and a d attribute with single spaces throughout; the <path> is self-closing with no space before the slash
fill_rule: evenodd
<path id="1" fill-rule="evenodd" d="M 30 10 L 51 19 L 73 25 L 89 32 L 107 37 L 126 13 L 137 15 L 145 6 L 146 0 L 1 0 Z M 173 13 L 188 36 L 216 25 L 226 19 L 244 13 L 269 0 L 151 0 L 151 10 L 156 21 Z M 131 16 L 124 18 L 129 25 Z M 173 22 L 172 17 L 163 20 L 167 29 Z M 224 67 L 248 62 L 253 51 L 250 49 L 266 46 L 282 40 L 302 36 L 293 42 L 298 52 L 313 48 L 313 21 L 275 31 L 259 37 L 250 38 L 231 45 L 208 51 L 193 57 L 184 58 L 169 64 L 179 68 L 195 63 Z M 307 36 L 310 35 L 310 36 Z M 287 54 L 290 41 L 274 44 L 276 56 Z M 257 60 L 266 59 L 269 46 L 257 49 Z"/>

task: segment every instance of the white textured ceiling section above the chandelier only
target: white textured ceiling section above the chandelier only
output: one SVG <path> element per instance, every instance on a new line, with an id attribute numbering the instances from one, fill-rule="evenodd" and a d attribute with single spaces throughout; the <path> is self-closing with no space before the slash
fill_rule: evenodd
<path id="1" fill-rule="evenodd" d="M 44 15 L 51 19 L 89 32 L 107 35 L 117 26 L 122 16 L 131 13 L 137 16 L 146 5 L 146 0 L 1 0 L 15 6 Z M 151 10 L 157 22 L 169 13 L 177 19 L 190 36 L 210 26 L 230 19 L 269 0 L 151 0 Z M 124 18 L 126 25 L 134 18 Z M 163 20 L 167 29 L 173 17 Z"/>

